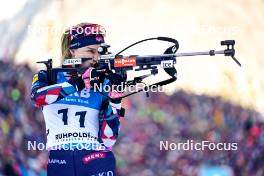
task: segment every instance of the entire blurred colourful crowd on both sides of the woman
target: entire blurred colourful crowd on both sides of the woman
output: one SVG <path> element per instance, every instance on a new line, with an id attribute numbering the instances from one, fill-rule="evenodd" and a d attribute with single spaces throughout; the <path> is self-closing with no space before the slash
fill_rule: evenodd
<path id="1" fill-rule="evenodd" d="M 0 70 L 0 176 L 46 175 L 47 151 L 28 150 L 28 141 L 46 140 L 43 115 L 30 101 L 35 71 L 4 61 Z M 233 175 L 264 175 L 264 117 L 258 112 L 184 91 L 149 98 L 140 93 L 124 105 L 114 147 L 118 175 L 195 176 L 210 166 Z M 187 140 L 235 142 L 238 150 L 160 150 L 160 141 Z"/>

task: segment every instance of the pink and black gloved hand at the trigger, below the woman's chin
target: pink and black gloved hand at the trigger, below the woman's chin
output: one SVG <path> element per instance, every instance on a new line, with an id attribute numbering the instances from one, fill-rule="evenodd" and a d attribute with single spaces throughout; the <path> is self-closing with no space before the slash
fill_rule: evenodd
<path id="1" fill-rule="evenodd" d="M 93 88 L 95 84 L 103 83 L 104 74 L 98 72 L 95 68 L 88 68 L 82 75 L 83 82 L 85 84 L 85 88 Z"/>

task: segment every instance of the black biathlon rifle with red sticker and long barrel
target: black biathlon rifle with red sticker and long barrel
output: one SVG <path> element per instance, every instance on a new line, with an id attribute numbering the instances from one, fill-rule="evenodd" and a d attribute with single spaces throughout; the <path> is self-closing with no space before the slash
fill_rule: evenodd
<path id="1" fill-rule="evenodd" d="M 148 40 L 166 41 L 166 42 L 173 43 L 173 45 L 170 48 L 168 48 L 164 54 L 161 54 L 161 55 L 143 55 L 143 56 L 141 55 L 131 55 L 131 56 L 121 55 L 121 53 L 127 50 L 128 48 L 134 45 L 137 45 L 139 43 L 148 41 Z M 165 72 L 170 76 L 170 78 L 163 80 L 163 81 L 159 81 L 152 85 L 149 85 L 148 87 L 164 86 L 164 85 L 170 84 L 177 80 L 177 71 L 174 65 L 176 64 L 176 58 L 178 57 L 198 56 L 198 55 L 215 56 L 215 55 L 222 54 L 224 56 L 230 56 L 239 66 L 241 66 L 239 61 L 235 58 L 235 48 L 234 48 L 235 40 L 224 40 L 224 41 L 221 41 L 220 44 L 222 46 L 226 46 L 226 48 L 224 50 L 209 50 L 205 52 L 176 53 L 177 50 L 179 49 L 179 43 L 176 39 L 169 38 L 169 37 L 156 37 L 156 38 L 147 38 L 147 39 L 135 42 L 129 45 L 128 47 L 124 48 L 123 50 L 121 50 L 115 55 L 108 52 L 108 48 L 110 47 L 109 45 L 102 44 L 98 48 L 98 52 L 100 53 L 101 56 L 100 56 L 98 63 L 95 65 L 95 68 L 98 72 L 105 74 L 106 78 L 107 78 L 107 74 L 109 73 L 109 71 L 111 71 L 111 72 L 121 75 L 124 80 L 127 80 L 127 71 L 150 70 L 150 74 L 148 75 L 134 77 L 133 80 L 125 82 L 126 86 L 131 86 L 131 85 L 136 85 L 138 83 L 143 83 L 142 81 L 146 77 L 158 74 L 158 66 L 160 66 L 161 68 L 165 70 Z M 87 59 L 89 58 L 65 59 L 63 66 L 76 65 L 77 68 L 52 68 L 52 59 L 48 59 L 48 61 L 40 61 L 37 63 L 43 63 L 46 65 L 47 74 L 48 74 L 48 83 L 49 85 L 51 85 L 56 82 L 56 77 L 59 72 L 70 73 L 71 77 L 81 76 L 82 73 L 84 72 L 84 68 L 81 68 L 78 66 L 80 66 Z M 141 90 L 126 94 L 121 98 L 128 97 L 130 95 L 141 92 L 143 90 L 144 89 L 141 89 Z M 147 93 L 147 96 L 148 96 L 148 93 Z"/>

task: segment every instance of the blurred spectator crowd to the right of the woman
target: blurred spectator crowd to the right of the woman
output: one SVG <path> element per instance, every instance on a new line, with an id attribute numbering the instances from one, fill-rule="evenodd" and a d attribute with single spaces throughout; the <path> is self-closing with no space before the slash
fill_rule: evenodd
<path id="1" fill-rule="evenodd" d="M 263 115 L 220 97 L 178 91 L 132 97 L 115 153 L 120 175 L 264 175 Z M 237 150 L 164 150 L 169 143 L 237 143 Z M 222 174 L 221 174 L 222 173 Z"/>

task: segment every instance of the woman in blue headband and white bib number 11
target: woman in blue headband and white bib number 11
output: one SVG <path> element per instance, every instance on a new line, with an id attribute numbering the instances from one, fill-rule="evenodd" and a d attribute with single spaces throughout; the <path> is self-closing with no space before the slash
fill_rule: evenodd
<path id="1" fill-rule="evenodd" d="M 56 82 L 48 85 L 46 71 L 34 75 L 31 99 L 45 119 L 48 176 L 116 175 L 111 147 L 120 129 L 121 98 L 106 98 L 91 87 L 98 78 L 94 65 L 104 43 L 103 32 L 100 25 L 81 23 L 62 36 L 63 59 L 86 58 L 81 65 L 87 68 L 82 77 L 58 73 Z M 111 79 L 103 79 L 104 85 L 112 84 Z"/>

